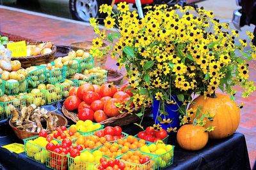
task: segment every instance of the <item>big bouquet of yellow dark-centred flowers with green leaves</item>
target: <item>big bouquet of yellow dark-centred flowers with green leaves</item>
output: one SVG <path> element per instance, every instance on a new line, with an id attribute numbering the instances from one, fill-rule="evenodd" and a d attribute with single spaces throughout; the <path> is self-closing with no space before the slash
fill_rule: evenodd
<path id="1" fill-rule="evenodd" d="M 117 13 L 108 5 L 100 6 L 100 11 L 108 13 L 105 26 L 116 29 L 109 34 L 100 31 L 95 18 L 90 20 L 99 34 L 93 40 L 92 55 L 100 56 L 102 52 L 97 48 L 102 40 L 109 41 L 111 57 L 127 70 L 135 94 L 130 102 L 135 106 L 143 107 L 156 99 L 161 101 L 160 113 L 166 114 L 164 104 L 177 103 L 178 99 L 183 103 L 179 106 L 182 119 L 191 115 L 186 108 L 193 94 L 214 97 L 219 88 L 234 99 L 235 85 L 243 88 L 243 97 L 255 90 L 253 81 L 248 80 L 244 59 L 255 59 L 256 47 L 245 39 L 236 44 L 238 31 L 228 32 L 229 25 L 213 18 L 212 11 L 198 8 L 193 15 L 195 9 L 191 6 L 146 8 L 145 18 L 138 18 L 126 3 L 118 4 Z M 252 33 L 246 34 L 253 39 Z M 252 50 L 245 53 L 247 45 Z M 143 112 L 138 116 L 143 117 Z M 186 122 L 182 120 L 182 124 Z"/>

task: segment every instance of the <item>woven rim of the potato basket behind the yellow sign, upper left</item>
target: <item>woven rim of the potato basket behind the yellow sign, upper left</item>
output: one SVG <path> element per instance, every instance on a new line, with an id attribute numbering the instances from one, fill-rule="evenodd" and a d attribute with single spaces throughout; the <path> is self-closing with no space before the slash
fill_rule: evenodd
<path id="1" fill-rule="evenodd" d="M 36 45 L 40 43 L 49 43 L 50 41 L 27 41 L 26 45 Z M 51 42 L 52 43 L 52 42 Z M 46 54 L 39 54 L 39 55 L 33 55 L 33 56 L 21 56 L 21 57 L 12 57 L 12 59 L 19 59 L 19 60 L 29 60 L 29 59 L 38 59 L 38 58 L 47 58 L 49 55 L 54 55 L 56 53 L 56 45 L 52 43 L 52 52 L 46 53 Z"/>

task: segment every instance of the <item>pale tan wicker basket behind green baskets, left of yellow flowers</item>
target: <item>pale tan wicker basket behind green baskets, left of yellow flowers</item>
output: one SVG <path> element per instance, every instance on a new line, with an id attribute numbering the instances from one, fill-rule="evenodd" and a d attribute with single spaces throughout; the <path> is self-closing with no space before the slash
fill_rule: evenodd
<path id="1" fill-rule="evenodd" d="M 71 48 L 72 50 L 84 50 L 84 52 L 89 52 L 92 48 L 92 41 L 80 41 L 80 42 L 75 42 L 71 43 Z M 104 50 L 106 48 L 106 43 L 103 43 L 102 47 L 99 48 L 99 50 Z M 103 55 L 102 57 L 95 57 L 94 58 L 94 66 L 105 66 L 106 60 L 107 60 L 108 55 Z"/>

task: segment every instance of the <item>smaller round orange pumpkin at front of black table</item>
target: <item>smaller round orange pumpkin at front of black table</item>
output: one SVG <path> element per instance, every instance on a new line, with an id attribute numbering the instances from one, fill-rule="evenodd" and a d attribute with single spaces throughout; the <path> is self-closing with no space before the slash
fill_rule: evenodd
<path id="1" fill-rule="evenodd" d="M 208 141 L 208 133 L 202 126 L 182 125 L 177 132 L 177 141 L 185 150 L 200 150 Z"/>

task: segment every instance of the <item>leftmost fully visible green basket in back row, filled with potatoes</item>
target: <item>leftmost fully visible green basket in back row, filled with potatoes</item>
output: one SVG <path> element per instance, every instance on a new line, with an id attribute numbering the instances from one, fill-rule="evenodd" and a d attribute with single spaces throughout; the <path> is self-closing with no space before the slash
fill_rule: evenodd
<path id="1" fill-rule="evenodd" d="M 28 79 L 17 81 L 17 82 L 8 82 L 2 80 L 5 86 L 4 94 L 15 95 L 25 92 L 28 89 Z"/>

